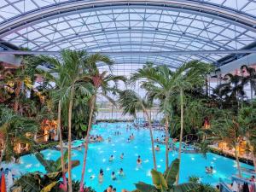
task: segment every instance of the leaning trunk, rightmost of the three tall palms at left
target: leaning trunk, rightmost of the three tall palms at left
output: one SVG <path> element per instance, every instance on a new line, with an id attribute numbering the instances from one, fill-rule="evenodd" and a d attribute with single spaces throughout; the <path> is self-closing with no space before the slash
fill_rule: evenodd
<path id="1" fill-rule="evenodd" d="M 84 191 L 84 173 L 86 168 L 90 128 L 91 128 L 92 115 L 95 108 L 95 102 L 96 102 L 96 94 L 92 96 L 91 102 L 90 102 L 90 116 L 89 116 L 88 130 L 87 130 L 85 141 L 84 141 L 84 160 L 83 160 L 83 169 L 82 169 L 82 175 L 80 180 L 80 191 Z"/>

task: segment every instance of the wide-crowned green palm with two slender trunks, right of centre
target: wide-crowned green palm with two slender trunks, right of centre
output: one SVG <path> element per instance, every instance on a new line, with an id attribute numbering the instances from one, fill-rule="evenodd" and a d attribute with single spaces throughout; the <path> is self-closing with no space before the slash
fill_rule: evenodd
<path id="1" fill-rule="evenodd" d="M 169 140 L 169 119 L 173 111 L 173 96 L 179 95 L 180 103 L 180 145 L 178 158 L 181 159 L 181 147 L 183 141 L 183 97 L 184 91 L 196 90 L 204 84 L 205 76 L 210 73 L 212 66 L 201 61 L 189 61 L 177 68 L 175 72 L 167 66 L 152 67 L 147 65 L 134 73 L 131 79 L 146 79 L 142 87 L 148 91 L 150 98 L 160 100 L 161 111 L 166 119 L 166 169 L 168 167 L 168 140 Z M 177 183 L 178 183 L 177 175 Z"/>

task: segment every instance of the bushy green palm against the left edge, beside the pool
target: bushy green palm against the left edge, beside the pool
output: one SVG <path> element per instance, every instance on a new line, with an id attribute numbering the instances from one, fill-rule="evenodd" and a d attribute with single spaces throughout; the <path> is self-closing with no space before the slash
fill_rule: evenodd
<path id="1" fill-rule="evenodd" d="M 3 139 L 3 152 L 0 155 L 0 164 L 5 156 L 6 160 L 15 154 L 15 143 L 31 143 L 26 133 L 38 131 L 38 123 L 33 119 L 20 116 L 13 109 L 0 106 L 0 134 Z"/>

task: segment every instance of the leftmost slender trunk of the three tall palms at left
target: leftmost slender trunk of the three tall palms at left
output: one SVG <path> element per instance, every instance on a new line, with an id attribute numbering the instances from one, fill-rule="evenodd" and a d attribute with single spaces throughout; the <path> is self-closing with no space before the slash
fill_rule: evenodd
<path id="1" fill-rule="evenodd" d="M 67 190 L 67 179 L 65 175 L 65 162 L 64 162 L 64 153 L 63 153 L 63 141 L 62 141 L 62 133 L 61 133 L 61 100 L 58 103 L 58 135 L 59 135 L 59 142 L 61 148 L 61 171 L 63 177 L 63 183 L 65 185 L 65 190 Z"/>

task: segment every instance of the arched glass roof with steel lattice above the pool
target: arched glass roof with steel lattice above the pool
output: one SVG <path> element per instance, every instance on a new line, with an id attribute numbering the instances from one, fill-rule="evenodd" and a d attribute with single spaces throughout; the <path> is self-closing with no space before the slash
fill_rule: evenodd
<path id="1" fill-rule="evenodd" d="M 128 52 L 117 64 L 178 67 L 224 54 L 133 55 L 136 51 L 241 49 L 256 39 L 254 0 L 1 0 L 0 38 L 32 50 Z"/>

